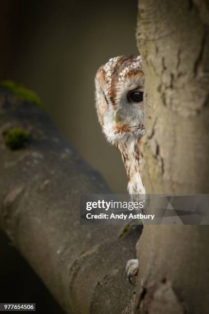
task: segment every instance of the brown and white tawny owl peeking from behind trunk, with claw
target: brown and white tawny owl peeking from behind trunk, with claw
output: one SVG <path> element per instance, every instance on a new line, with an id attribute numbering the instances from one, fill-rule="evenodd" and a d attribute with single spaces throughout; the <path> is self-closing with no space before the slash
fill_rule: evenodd
<path id="1" fill-rule="evenodd" d="M 145 194 L 140 176 L 140 144 L 145 133 L 141 56 L 111 58 L 97 71 L 95 84 L 99 122 L 107 141 L 121 152 L 128 176 L 128 192 Z M 126 268 L 131 276 L 138 268 L 138 261 L 128 261 Z"/>

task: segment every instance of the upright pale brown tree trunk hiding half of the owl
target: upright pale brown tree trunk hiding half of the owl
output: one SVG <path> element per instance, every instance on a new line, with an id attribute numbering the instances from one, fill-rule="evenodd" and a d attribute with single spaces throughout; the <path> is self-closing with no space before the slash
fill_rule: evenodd
<path id="1" fill-rule="evenodd" d="M 139 0 L 147 193 L 209 193 L 209 2 Z M 208 313 L 208 226 L 145 226 L 127 313 Z"/>

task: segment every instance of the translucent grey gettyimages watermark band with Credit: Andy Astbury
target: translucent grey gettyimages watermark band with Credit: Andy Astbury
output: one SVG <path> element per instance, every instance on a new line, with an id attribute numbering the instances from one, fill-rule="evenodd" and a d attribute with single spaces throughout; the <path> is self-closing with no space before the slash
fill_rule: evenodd
<path id="1" fill-rule="evenodd" d="M 81 224 L 208 225 L 209 194 L 81 195 Z"/>

